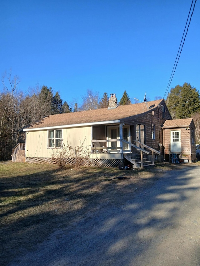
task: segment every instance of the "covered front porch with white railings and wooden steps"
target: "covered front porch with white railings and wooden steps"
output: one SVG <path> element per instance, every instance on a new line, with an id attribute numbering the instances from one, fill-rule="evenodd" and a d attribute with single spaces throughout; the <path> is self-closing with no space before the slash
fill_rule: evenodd
<path id="1" fill-rule="evenodd" d="M 92 127 L 91 157 L 98 159 L 126 159 L 133 168 L 154 165 L 157 150 L 144 144 L 145 130 L 142 125 L 119 123 Z M 135 140 L 135 139 L 138 140 Z"/>

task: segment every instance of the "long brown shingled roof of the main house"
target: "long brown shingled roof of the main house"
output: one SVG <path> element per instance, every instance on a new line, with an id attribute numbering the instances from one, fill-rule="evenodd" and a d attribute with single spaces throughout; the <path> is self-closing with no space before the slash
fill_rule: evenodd
<path id="1" fill-rule="evenodd" d="M 24 127 L 23 129 L 33 129 L 33 128 L 46 128 L 46 127 L 56 127 L 63 125 L 74 125 L 74 124 L 84 124 L 84 123 L 95 123 L 95 122 L 106 122 L 113 120 L 125 119 L 127 117 L 132 117 L 149 112 L 155 109 L 158 104 L 163 101 L 155 100 L 147 102 L 148 107 L 153 106 L 152 109 L 147 107 L 146 103 L 139 104 L 129 104 L 129 105 L 119 105 L 115 109 L 103 108 L 82 112 L 72 112 L 66 114 L 53 114 L 41 118 L 40 120 Z"/>

